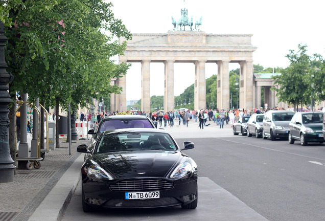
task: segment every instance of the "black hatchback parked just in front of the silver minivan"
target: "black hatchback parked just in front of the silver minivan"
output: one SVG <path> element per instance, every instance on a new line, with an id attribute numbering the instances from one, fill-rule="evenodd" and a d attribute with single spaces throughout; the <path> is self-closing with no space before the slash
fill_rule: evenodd
<path id="1" fill-rule="evenodd" d="M 322 112 L 297 112 L 289 124 L 289 143 L 300 140 L 306 146 L 309 142 L 323 143 L 324 136 Z"/>

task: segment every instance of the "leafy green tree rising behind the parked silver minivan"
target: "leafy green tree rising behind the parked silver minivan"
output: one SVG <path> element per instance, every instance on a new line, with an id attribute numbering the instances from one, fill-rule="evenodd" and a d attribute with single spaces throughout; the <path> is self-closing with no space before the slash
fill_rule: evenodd
<path id="1" fill-rule="evenodd" d="M 282 75 L 273 76 L 274 83 L 280 85 L 279 89 L 272 87 L 277 92 L 279 101 L 290 104 L 308 104 L 311 101 L 310 56 L 307 54 L 306 45 L 298 45 L 298 51 L 290 50 L 286 57 L 290 61 L 287 69 L 282 70 Z"/>

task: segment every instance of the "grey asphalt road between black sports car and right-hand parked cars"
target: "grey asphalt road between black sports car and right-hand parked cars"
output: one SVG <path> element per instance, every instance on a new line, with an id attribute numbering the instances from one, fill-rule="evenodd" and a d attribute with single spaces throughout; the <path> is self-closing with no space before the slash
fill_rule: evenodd
<path id="1" fill-rule="evenodd" d="M 300 146 L 298 142 L 290 145 L 283 140 L 234 136 L 228 125 L 224 129 L 210 126 L 199 130 L 193 123 L 188 132 L 184 127 L 166 129 L 178 144 L 185 140 L 194 142 L 195 148 L 184 152 L 198 164 L 199 188 L 205 185 L 204 191 L 211 194 L 219 188 L 229 193 L 227 196 L 235 203 L 227 204 L 216 194 L 212 201 L 212 197 L 199 196 L 198 208 L 185 213 L 177 208 L 165 208 L 152 210 L 148 216 L 134 211 L 131 211 L 132 216 L 130 211 L 84 214 L 77 188 L 62 220 L 104 220 L 111 215 L 114 220 L 149 220 L 154 217 L 165 220 L 161 219 L 164 216 L 166 220 L 244 220 L 245 214 L 242 219 L 234 218 L 231 213 L 227 215 L 226 210 L 236 209 L 232 208 L 235 204 L 250 208 L 257 217 L 260 214 L 261 220 L 325 220 L 324 144 Z M 218 208 L 223 208 L 225 216 L 216 211 Z M 179 213 L 185 219 L 179 218 Z M 171 218 L 173 215 L 178 218 Z M 257 217 L 247 220 L 258 220 Z"/>

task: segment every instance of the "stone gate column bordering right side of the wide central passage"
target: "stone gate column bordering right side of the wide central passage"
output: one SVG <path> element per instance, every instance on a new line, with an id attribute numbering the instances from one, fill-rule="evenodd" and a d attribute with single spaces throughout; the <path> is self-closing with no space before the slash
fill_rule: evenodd
<path id="1" fill-rule="evenodd" d="M 205 60 L 195 61 L 194 109 L 206 108 Z"/>

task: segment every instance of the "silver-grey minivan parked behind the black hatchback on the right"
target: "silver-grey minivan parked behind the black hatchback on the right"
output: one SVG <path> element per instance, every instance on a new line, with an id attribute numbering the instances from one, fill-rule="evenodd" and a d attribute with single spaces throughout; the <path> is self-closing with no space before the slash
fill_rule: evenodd
<path id="1" fill-rule="evenodd" d="M 263 118 L 263 139 L 288 139 L 289 123 L 294 114 L 291 111 L 267 111 Z"/>

